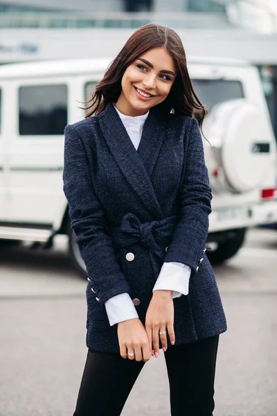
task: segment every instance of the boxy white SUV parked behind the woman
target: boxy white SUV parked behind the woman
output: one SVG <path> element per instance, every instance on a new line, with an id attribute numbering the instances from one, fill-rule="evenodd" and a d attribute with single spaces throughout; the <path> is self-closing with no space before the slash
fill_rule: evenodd
<path id="1" fill-rule="evenodd" d="M 64 60 L 0 67 L 0 239 L 49 248 L 69 235 L 85 274 L 62 190 L 64 126 L 84 117 L 110 60 Z M 233 256 L 248 227 L 277 221 L 276 141 L 258 71 L 244 62 L 191 58 L 190 76 L 210 114 L 204 122 L 213 189 L 208 252 Z"/>

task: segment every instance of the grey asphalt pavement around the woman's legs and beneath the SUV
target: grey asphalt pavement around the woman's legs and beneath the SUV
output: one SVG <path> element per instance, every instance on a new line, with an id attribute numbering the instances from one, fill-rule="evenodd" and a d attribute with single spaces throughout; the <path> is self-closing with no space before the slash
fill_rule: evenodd
<path id="1" fill-rule="evenodd" d="M 214 268 L 228 322 L 215 416 L 277 416 L 276 269 L 271 229 L 251 230 L 239 254 Z M 73 415 L 87 354 L 86 285 L 62 237 L 48 251 L 0 248 L 1 416 Z M 145 365 L 129 395 L 122 416 L 134 415 L 170 416 L 163 354 Z"/>

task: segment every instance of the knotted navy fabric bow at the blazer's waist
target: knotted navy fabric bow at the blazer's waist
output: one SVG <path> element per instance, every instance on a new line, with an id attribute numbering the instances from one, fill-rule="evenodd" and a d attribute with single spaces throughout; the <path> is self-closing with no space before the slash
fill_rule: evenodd
<path id="1" fill-rule="evenodd" d="M 159 221 L 141 223 L 137 216 L 128 213 L 123 217 L 121 226 L 112 229 L 111 236 L 116 248 L 140 242 L 150 250 L 152 263 L 155 263 L 153 254 L 163 260 L 165 248 L 170 243 L 177 222 L 178 216 L 170 216 Z"/>

